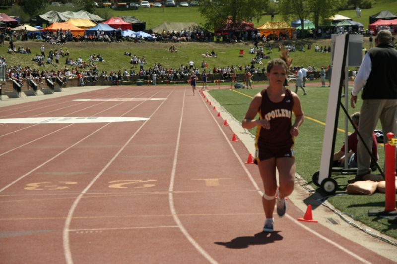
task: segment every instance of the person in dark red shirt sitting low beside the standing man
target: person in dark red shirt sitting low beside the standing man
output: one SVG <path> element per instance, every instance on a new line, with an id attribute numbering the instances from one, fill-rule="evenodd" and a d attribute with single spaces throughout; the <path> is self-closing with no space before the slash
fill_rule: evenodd
<path id="1" fill-rule="evenodd" d="M 348 143 L 348 153 L 347 153 L 347 160 L 348 168 L 356 168 L 357 167 L 357 130 L 358 130 L 358 123 L 360 121 L 360 112 L 355 112 L 351 116 L 354 125 L 354 133 L 350 134 L 347 138 Z M 369 147 L 368 147 L 369 148 Z M 344 167 L 344 160 L 345 160 L 345 145 L 340 148 L 338 152 L 333 154 L 333 167 Z M 376 162 L 378 161 L 378 145 L 375 133 L 372 133 L 372 156 L 375 160 L 371 160 L 371 168 L 375 168 L 376 170 Z"/>

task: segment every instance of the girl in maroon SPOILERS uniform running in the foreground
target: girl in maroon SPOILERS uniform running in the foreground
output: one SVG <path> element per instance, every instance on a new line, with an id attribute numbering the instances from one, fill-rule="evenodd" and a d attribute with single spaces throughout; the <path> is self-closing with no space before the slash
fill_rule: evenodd
<path id="1" fill-rule="evenodd" d="M 257 126 L 255 163 L 258 164 L 264 184 L 262 203 L 265 211 L 265 232 L 273 232 L 273 211 L 277 191 L 276 168 L 279 174 L 277 214 L 286 211 L 285 197 L 294 190 L 295 155 L 294 137 L 303 122 L 303 111 L 296 93 L 283 86 L 287 66 L 282 59 L 267 63 L 266 76 L 269 86 L 256 94 L 242 121 L 247 129 Z M 292 112 L 295 122 L 292 123 Z M 259 113 L 259 119 L 254 119 Z"/>

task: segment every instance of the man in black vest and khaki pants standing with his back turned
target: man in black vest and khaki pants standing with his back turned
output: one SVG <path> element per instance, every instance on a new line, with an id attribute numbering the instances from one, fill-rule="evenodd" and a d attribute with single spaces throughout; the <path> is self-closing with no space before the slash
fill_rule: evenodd
<path id="1" fill-rule="evenodd" d="M 364 175 L 371 173 L 371 156 L 363 144 L 372 149 L 372 133 L 378 120 L 381 120 L 384 135 L 393 132 L 396 137 L 397 134 L 397 50 L 393 41 L 390 31 L 379 31 L 375 39 L 376 47 L 365 54 L 354 80 L 350 98 L 352 108 L 357 103 L 358 93 L 364 88 L 358 126 L 364 142 L 360 139 L 358 141 L 358 170 L 355 180 L 361 180 Z"/>

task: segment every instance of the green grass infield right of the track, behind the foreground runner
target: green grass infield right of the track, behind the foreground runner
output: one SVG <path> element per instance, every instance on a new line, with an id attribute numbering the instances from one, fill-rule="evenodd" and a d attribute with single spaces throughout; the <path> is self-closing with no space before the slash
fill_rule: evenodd
<path id="1" fill-rule="evenodd" d="M 263 88 L 263 86 L 262 86 Z M 237 120 L 242 120 L 251 98 L 262 88 L 254 88 L 253 90 L 241 90 L 235 93 L 231 90 L 211 90 L 209 93 L 226 108 Z M 294 91 L 292 84 L 291 89 Z M 350 88 L 351 89 L 351 88 Z M 327 117 L 327 105 L 329 97 L 329 88 L 306 86 L 308 96 L 302 96 L 302 92 L 298 91 L 302 102 L 302 108 L 305 113 L 305 121 L 299 129 L 299 136 L 295 140 L 295 154 L 297 173 L 300 174 L 307 182 L 309 182 L 316 192 L 320 192 L 326 199 L 331 202 L 343 214 L 347 214 L 356 220 L 374 228 L 388 236 L 397 238 L 397 224 L 391 223 L 387 219 L 368 216 L 367 212 L 371 209 L 382 209 L 385 206 L 385 195 L 375 193 L 372 196 L 364 195 L 347 195 L 337 194 L 336 196 L 327 197 L 321 188 L 312 183 L 312 176 L 316 171 L 320 170 L 320 159 L 322 154 L 323 137 L 325 130 L 325 121 Z M 240 93 L 244 93 L 244 96 Z M 342 98 L 342 103 L 344 99 Z M 361 99 L 358 100 L 355 109 L 349 109 L 349 113 L 357 111 L 361 107 Z M 338 132 L 336 133 L 335 150 L 339 150 L 344 142 L 345 133 L 345 117 L 342 109 L 339 113 Z M 378 125 L 380 129 L 380 125 Z M 352 126 L 349 124 L 349 132 L 353 132 Z M 250 130 L 255 133 L 255 129 Z M 383 168 L 384 153 L 383 146 L 378 145 L 379 164 Z M 347 180 L 354 175 L 332 175 L 339 185 L 347 184 Z M 339 186 L 338 191 L 344 191 L 345 185 Z"/>

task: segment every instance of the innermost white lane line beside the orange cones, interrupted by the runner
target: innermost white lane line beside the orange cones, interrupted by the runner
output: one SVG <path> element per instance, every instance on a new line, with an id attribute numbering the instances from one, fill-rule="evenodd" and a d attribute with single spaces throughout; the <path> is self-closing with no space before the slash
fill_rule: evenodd
<path id="1" fill-rule="evenodd" d="M 207 105 L 204 102 L 204 99 L 201 97 L 202 103 L 205 104 L 205 106 Z M 226 142 L 229 144 L 230 148 L 232 149 L 234 155 L 236 156 L 237 160 L 239 161 L 240 165 L 243 167 L 244 171 L 247 173 L 248 178 L 250 179 L 250 181 L 252 182 L 252 184 L 254 185 L 255 190 L 257 190 L 258 194 L 260 196 L 263 196 L 264 193 L 261 191 L 261 189 L 258 187 L 258 184 L 255 182 L 254 177 L 252 176 L 252 174 L 250 173 L 250 171 L 247 169 L 245 163 L 243 162 L 243 160 L 241 160 L 241 158 L 238 156 L 236 150 L 234 149 L 233 145 L 230 143 L 230 140 L 227 138 L 225 132 L 222 130 L 221 126 L 219 125 L 219 123 L 216 121 L 214 115 L 211 113 L 211 110 L 209 107 L 207 107 L 207 110 L 210 112 L 212 119 L 215 121 L 216 125 L 218 126 L 219 130 L 222 132 L 223 137 L 225 138 Z M 225 110 L 226 111 L 226 110 Z M 324 241 L 330 243 L 331 245 L 335 246 L 336 248 L 342 250 L 343 252 L 347 253 L 348 255 L 352 256 L 353 258 L 357 259 L 358 261 L 361 261 L 363 263 L 370 263 L 367 260 L 361 258 L 360 256 L 358 256 L 357 254 L 343 248 L 342 246 L 340 246 L 339 244 L 337 244 L 336 242 L 333 242 L 331 239 L 326 238 L 325 236 L 321 235 L 320 233 L 310 229 L 309 227 L 305 226 L 304 224 L 302 224 L 301 222 L 299 222 L 298 220 L 295 220 L 292 216 L 290 216 L 288 213 L 285 214 L 287 216 L 288 219 L 290 219 L 292 222 L 298 224 L 299 226 L 301 226 L 302 228 L 306 229 L 307 231 L 309 231 L 310 233 L 312 233 L 313 235 L 323 239 Z"/>

